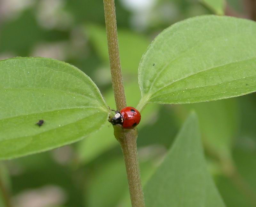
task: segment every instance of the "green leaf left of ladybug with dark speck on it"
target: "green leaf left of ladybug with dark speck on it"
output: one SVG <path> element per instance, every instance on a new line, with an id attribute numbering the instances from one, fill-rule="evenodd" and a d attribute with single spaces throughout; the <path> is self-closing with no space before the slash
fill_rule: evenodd
<path id="1" fill-rule="evenodd" d="M 0 159 L 70 144 L 107 121 L 97 86 L 72 65 L 13 58 L 0 61 L 0 74 Z"/>

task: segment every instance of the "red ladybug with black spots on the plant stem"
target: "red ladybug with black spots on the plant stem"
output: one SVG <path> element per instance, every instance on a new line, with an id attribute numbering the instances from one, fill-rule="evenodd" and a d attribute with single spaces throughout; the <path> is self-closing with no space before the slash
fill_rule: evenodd
<path id="1" fill-rule="evenodd" d="M 115 111 L 115 110 L 112 110 Z M 121 125 L 124 129 L 133 129 L 140 123 L 140 112 L 133 107 L 125 107 L 120 112 L 115 111 L 116 114 L 108 121 L 113 125 Z"/>

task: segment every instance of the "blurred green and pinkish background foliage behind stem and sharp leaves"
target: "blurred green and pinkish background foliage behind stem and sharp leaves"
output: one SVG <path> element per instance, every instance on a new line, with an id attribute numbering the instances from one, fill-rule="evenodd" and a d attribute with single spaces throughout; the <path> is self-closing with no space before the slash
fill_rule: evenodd
<path id="1" fill-rule="evenodd" d="M 189 17 L 227 14 L 250 18 L 248 2 L 213 8 L 200 0 L 116 0 L 127 103 L 140 100 L 138 66 L 164 28 Z M 0 59 L 42 56 L 89 75 L 115 108 L 102 0 L 1 0 Z M 256 206 L 256 95 L 191 105 L 148 105 L 138 150 L 145 183 L 161 163 L 191 110 L 199 116 L 209 171 L 229 207 Z M 112 127 L 78 143 L 0 165 L 0 178 L 17 207 L 129 207 L 122 152 Z M 0 206 L 2 202 L 0 193 Z"/>

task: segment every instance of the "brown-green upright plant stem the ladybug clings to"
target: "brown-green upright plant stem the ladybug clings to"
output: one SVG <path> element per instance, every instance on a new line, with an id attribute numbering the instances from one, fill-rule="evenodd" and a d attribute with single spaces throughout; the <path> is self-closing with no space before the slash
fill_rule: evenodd
<path id="1" fill-rule="evenodd" d="M 117 110 L 121 110 L 126 107 L 126 100 L 118 50 L 115 2 L 114 0 L 103 0 L 103 2 L 112 85 L 115 94 L 116 108 Z M 123 151 L 132 207 L 144 207 L 136 144 L 138 131 L 137 129 L 124 130 L 118 126 L 114 126 L 114 135 L 119 141 Z"/>

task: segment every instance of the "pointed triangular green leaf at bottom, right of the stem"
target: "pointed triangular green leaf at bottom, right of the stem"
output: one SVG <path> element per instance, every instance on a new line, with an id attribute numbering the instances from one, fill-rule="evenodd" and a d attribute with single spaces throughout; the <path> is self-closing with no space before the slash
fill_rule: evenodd
<path id="1" fill-rule="evenodd" d="M 144 194 L 148 207 L 225 206 L 206 168 L 195 114 L 185 122 Z"/>

